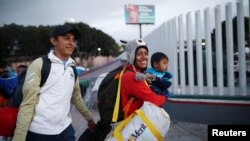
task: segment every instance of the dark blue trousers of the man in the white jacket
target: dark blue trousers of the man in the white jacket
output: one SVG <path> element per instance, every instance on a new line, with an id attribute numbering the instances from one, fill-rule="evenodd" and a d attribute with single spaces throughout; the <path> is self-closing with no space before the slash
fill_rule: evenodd
<path id="1" fill-rule="evenodd" d="M 75 130 L 70 124 L 58 135 L 43 135 L 28 131 L 26 141 L 75 141 Z"/>

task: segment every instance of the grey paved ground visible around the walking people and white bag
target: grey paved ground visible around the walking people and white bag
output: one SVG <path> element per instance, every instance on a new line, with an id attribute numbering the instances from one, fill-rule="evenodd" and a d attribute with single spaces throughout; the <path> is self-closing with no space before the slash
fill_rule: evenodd
<path id="1" fill-rule="evenodd" d="M 86 129 L 85 119 L 73 107 L 71 110 L 75 135 L 78 139 Z M 96 110 L 91 110 L 94 120 L 99 120 L 99 114 Z M 3 139 L 0 137 L 0 141 Z M 164 141 L 207 141 L 207 125 L 189 122 L 171 121 L 170 129 Z"/>

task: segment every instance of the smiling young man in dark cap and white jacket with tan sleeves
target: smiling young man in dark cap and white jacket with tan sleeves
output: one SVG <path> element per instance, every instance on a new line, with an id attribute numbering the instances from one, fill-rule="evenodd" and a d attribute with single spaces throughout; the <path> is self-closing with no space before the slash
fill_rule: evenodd
<path id="1" fill-rule="evenodd" d="M 79 38 L 80 32 L 69 25 L 55 28 L 50 37 L 54 49 L 48 54 L 51 69 L 42 87 L 42 58 L 29 66 L 13 141 L 75 141 L 71 103 L 88 121 L 88 127 L 94 128 L 95 122 L 81 98 L 79 80 L 75 80 L 71 67 L 75 62 L 70 55 Z"/>

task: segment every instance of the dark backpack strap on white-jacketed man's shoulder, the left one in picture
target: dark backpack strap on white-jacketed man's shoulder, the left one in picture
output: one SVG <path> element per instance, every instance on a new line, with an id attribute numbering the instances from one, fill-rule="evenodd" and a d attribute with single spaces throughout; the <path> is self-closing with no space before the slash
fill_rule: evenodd
<path id="1" fill-rule="evenodd" d="M 46 82 L 47 78 L 49 77 L 49 73 L 51 69 L 51 61 L 48 55 L 43 56 L 42 59 L 43 59 L 43 64 L 42 64 L 42 69 L 41 69 L 40 87 L 42 87 L 43 84 Z"/>

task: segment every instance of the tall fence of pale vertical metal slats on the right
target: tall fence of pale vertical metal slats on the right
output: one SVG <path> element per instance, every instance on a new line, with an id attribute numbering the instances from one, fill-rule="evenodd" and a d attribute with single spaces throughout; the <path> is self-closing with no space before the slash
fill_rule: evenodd
<path id="1" fill-rule="evenodd" d="M 244 2 L 247 1 L 237 1 L 234 7 L 232 3 L 226 3 L 223 12 L 221 5 L 217 5 L 206 8 L 203 13 L 197 10 L 194 17 L 191 12 L 186 16 L 181 14 L 166 21 L 144 38 L 151 46 L 151 54 L 161 51 L 168 55 L 169 71 L 174 74 L 171 87 L 174 94 L 250 95 L 250 78 L 247 75 L 250 72 L 246 68 L 250 66 L 246 66 L 249 60 L 246 59 Z M 233 8 L 236 9 L 235 13 L 232 12 Z M 237 52 L 234 51 L 233 14 L 237 16 Z M 225 48 L 221 24 L 224 16 Z M 214 45 L 211 39 L 213 29 Z M 238 59 L 235 59 L 235 55 Z"/>

